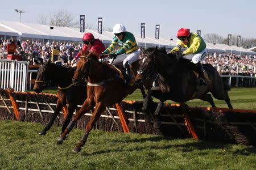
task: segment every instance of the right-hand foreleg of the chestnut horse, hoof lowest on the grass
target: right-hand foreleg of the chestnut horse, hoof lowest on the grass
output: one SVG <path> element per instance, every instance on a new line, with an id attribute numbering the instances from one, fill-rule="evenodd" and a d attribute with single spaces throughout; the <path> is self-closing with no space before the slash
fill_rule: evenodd
<path id="1" fill-rule="evenodd" d="M 86 125 L 85 133 L 82 136 L 81 141 L 73 149 L 73 152 L 81 151 L 81 147 L 85 145 L 85 142 L 86 142 L 87 137 L 88 137 L 88 135 L 90 133 L 90 130 L 92 130 L 92 128 L 95 125 L 96 121 L 98 120 L 98 118 L 101 116 L 101 113 L 104 112 L 105 109 L 106 109 L 106 106 L 104 104 L 102 104 L 102 101 L 96 104 L 96 107 L 94 109 L 92 117 L 90 118 L 90 121 Z"/>

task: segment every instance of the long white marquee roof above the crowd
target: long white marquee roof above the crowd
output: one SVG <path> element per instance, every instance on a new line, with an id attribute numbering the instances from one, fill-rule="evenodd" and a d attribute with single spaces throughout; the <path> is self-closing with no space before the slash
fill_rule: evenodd
<path id="1" fill-rule="evenodd" d="M 0 20 L 0 36 L 14 36 L 24 37 L 32 39 L 46 39 L 46 40 L 61 40 L 61 41 L 81 41 L 83 32 L 80 32 L 79 28 L 70 27 L 56 27 L 50 29 L 50 25 L 43 24 L 31 24 L 31 23 L 20 23 L 20 22 L 9 22 Z M 85 29 L 85 32 L 93 33 L 94 37 L 102 40 L 106 44 L 110 44 L 113 39 L 113 33 L 109 31 L 103 31 L 102 34 L 98 33 L 97 30 Z M 167 37 L 160 37 L 159 40 L 155 37 L 146 36 L 144 39 L 140 35 L 134 35 L 139 46 L 166 46 L 167 49 L 172 49 L 177 40 L 170 40 Z M 212 44 L 207 43 L 207 49 L 210 52 L 228 52 L 237 54 L 253 54 L 255 52 L 240 48 L 238 46 L 228 46 L 226 44 Z"/>

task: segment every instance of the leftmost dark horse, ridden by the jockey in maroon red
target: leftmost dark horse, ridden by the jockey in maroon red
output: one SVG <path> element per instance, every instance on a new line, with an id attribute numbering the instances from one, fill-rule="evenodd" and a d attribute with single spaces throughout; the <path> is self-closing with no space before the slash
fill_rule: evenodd
<path id="1" fill-rule="evenodd" d="M 49 80 L 54 80 L 57 83 L 57 105 L 55 112 L 52 114 L 46 127 L 40 131 L 40 135 L 45 135 L 53 125 L 56 117 L 61 109 L 67 105 L 67 117 L 62 126 L 61 133 L 67 128 L 69 121 L 72 118 L 73 112 L 77 108 L 77 104 L 82 104 L 86 99 L 86 86 L 73 86 L 72 78 L 75 74 L 75 69 L 64 67 L 51 63 L 50 60 L 43 63 L 38 70 L 35 85 L 33 90 L 37 93 L 42 92 L 44 84 Z"/>

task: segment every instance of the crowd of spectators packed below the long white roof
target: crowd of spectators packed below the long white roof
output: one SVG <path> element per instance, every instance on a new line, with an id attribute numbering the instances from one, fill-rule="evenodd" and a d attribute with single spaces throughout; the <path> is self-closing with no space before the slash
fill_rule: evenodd
<path id="1" fill-rule="evenodd" d="M 0 40 L 0 56 L 1 59 L 6 59 L 7 56 L 7 44 L 14 42 L 16 45 L 16 53 L 20 54 L 24 52 L 32 58 L 40 57 L 43 61 L 52 59 L 53 55 L 57 55 L 57 61 L 53 61 L 60 65 L 71 65 L 73 57 L 79 53 L 83 44 L 75 42 L 57 42 L 49 40 L 44 44 L 39 41 L 30 40 L 17 40 L 3 39 Z M 30 64 L 34 64 L 30 59 Z M 238 54 L 229 53 L 213 53 L 207 55 L 202 63 L 210 63 L 221 75 L 244 75 L 244 76 L 256 76 L 256 56 L 246 55 L 240 56 Z"/>

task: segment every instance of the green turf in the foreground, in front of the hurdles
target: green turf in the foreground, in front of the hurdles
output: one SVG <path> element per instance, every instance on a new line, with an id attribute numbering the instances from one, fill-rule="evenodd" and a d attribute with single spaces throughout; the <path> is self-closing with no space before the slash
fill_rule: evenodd
<path id="1" fill-rule="evenodd" d="M 1 169 L 255 169 L 256 148 L 193 139 L 171 139 L 92 130 L 81 152 L 74 129 L 62 146 L 60 128 L 38 135 L 43 125 L 0 121 Z"/>

